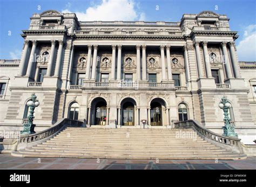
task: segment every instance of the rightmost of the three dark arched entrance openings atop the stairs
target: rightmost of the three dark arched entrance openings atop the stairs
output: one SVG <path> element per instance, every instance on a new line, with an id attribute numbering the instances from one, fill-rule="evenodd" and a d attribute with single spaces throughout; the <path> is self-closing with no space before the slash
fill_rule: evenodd
<path id="1" fill-rule="evenodd" d="M 151 126 L 163 126 L 165 102 L 163 99 L 156 98 L 150 103 L 150 124 Z"/>

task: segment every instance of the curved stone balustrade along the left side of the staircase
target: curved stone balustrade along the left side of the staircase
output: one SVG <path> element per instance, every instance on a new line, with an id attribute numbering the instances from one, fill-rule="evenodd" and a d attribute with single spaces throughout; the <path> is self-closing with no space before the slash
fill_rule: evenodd
<path id="1" fill-rule="evenodd" d="M 35 134 L 24 134 L 19 137 L 17 150 L 23 149 L 26 147 L 31 147 L 37 143 L 41 143 L 43 141 L 49 140 L 51 137 L 55 136 L 59 133 L 59 131 L 63 130 L 66 126 L 75 126 L 82 127 L 83 121 L 71 120 L 68 118 L 64 118 L 55 124 L 52 127 L 42 130 Z"/>

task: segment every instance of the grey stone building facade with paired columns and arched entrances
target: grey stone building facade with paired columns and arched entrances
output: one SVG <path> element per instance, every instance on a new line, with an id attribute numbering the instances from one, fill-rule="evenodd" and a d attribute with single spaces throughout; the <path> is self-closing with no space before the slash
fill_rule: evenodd
<path id="1" fill-rule="evenodd" d="M 173 128 L 197 120 L 222 134 L 225 95 L 242 142 L 255 140 L 255 62 L 238 62 L 226 15 L 180 22 L 79 22 L 75 13 L 35 13 L 21 60 L 0 63 L 0 128 L 22 130 L 35 93 L 35 131 L 62 118 L 86 127 Z M 95 126 L 96 125 L 96 126 Z"/>

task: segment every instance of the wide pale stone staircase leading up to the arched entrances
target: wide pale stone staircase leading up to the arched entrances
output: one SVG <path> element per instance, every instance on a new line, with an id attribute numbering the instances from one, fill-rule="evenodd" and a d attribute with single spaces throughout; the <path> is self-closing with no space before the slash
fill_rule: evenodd
<path id="1" fill-rule="evenodd" d="M 180 136 L 180 135 L 191 135 Z M 223 159 L 244 157 L 209 143 L 192 128 L 109 129 L 66 127 L 53 138 L 13 152 L 21 157 Z"/>

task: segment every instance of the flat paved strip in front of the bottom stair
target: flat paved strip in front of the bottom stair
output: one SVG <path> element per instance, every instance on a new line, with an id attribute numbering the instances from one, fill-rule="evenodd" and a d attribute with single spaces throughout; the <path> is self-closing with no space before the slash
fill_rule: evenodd
<path id="1" fill-rule="evenodd" d="M 0 169 L 256 169 L 256 157 L 245 160 L 118 160 L 23 158 L 0 154 Z"/>

